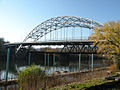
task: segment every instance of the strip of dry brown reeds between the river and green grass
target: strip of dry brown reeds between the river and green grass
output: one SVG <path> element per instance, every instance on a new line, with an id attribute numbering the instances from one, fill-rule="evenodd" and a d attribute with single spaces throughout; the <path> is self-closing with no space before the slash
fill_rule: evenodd
<path id="1" fill-rule="evenodd" d="M 94 70 L 51 74 L 51 75 L 47 75 L 46 80 L 43 80 L 43 81 L 38 79 L 39 76 L 32 77 L 34 78 L 34 80 L 31 81 L 31 78 L 30 78 L 30 80 L 26 81 L 25 85 L 27 85 L 26 87 L 29 90 L 34 90 L 32 89 L 33 87 L 36 89 L 39 89 L 39 88 L 50 89 L 50 88 L 62 86 L 65 84 L 67 85 L 73 82 L 83 82 L 86 80 L 92 80 L 94 78 L 105 77 L 107 76 L 107 69 L 108 68 L 97 68 Z M 6 83 L 6 85 L 8 85 L 8 83 Z"/>

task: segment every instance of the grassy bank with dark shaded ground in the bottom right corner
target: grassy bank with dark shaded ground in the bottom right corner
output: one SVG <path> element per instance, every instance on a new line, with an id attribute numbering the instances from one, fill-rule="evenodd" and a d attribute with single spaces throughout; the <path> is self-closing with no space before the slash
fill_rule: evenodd
<path id="1" fill-rule="evenodd" d="M 50 90 L 107 90 L 118 85 L 120 81 L 105 80 L 105 78 L 75 82 L 60 87 L 51 88 Z"/>

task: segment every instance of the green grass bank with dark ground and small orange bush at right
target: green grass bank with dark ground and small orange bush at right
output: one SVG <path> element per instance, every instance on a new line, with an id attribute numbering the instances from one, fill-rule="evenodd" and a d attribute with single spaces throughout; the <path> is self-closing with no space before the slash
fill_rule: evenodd
<path id="1" fill-rule="evenodd" d="M 74 82 L 50 88 L 50 90 L 106 90 L 120 85 L 120 70 L 116 70 L 115 65 L 111 65 L 107 72 L 108 76 L 106 77 Z M 111 74 L 109 72 L 111 72 Z"/>

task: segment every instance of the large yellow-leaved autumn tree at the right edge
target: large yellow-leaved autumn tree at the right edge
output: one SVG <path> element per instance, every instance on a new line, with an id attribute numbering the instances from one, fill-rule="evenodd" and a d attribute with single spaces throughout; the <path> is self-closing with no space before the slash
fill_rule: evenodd
<path id="1" fill-rule="evenodd" d="M 95 41 L 98 52 L 108 58 L 114 58 L 120 69 L 120 21 L 111 21 L 105 23 L 101 28 L 96 27 L 90 39 Z"/>

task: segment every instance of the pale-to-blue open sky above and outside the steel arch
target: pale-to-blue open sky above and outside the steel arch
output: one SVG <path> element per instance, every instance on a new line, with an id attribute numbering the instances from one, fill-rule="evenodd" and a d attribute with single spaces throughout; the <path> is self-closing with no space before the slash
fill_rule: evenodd
<path id="1" fill-rule="evenodd" d="M 0 37 L 23 41 L 35 26 L 56 16 L 120 20 L 120 0 L 0 0 Z"/>

